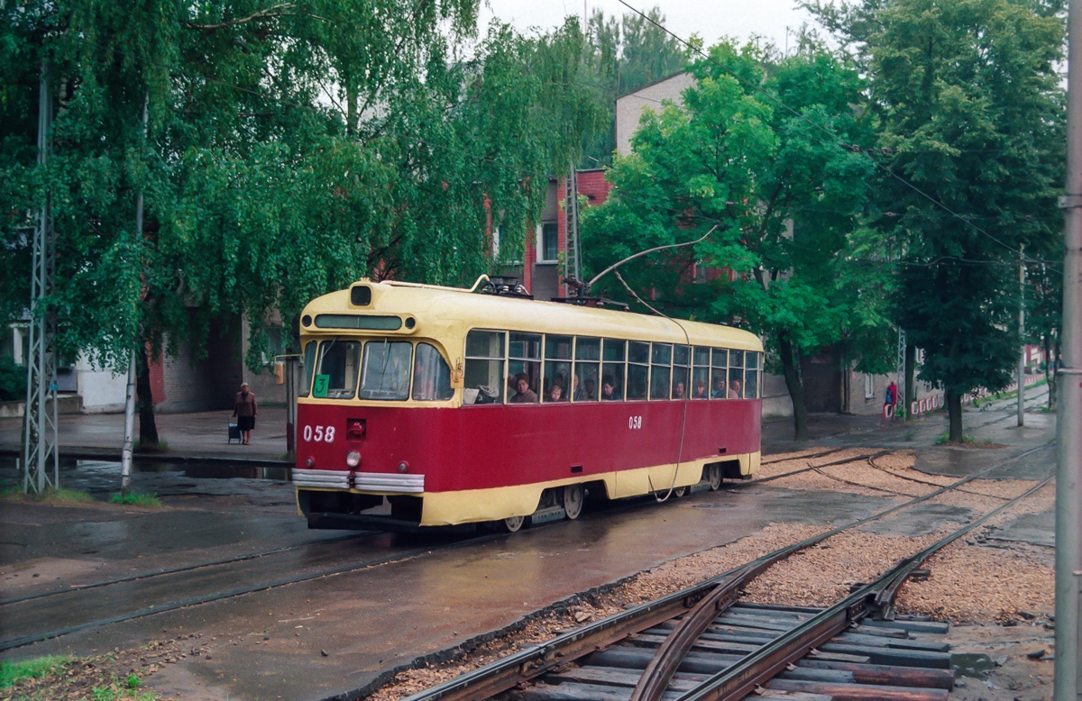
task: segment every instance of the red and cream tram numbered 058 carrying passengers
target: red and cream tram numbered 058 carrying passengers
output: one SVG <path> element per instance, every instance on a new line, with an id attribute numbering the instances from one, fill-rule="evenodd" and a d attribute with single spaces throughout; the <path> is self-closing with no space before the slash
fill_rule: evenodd
<path id="1" fill-rule="evenodd" d="M 576 518 L 750 477 L 763 345 L 606 308 L 361 280 L 301 318 L 298 504 L 313 528 Z"/>

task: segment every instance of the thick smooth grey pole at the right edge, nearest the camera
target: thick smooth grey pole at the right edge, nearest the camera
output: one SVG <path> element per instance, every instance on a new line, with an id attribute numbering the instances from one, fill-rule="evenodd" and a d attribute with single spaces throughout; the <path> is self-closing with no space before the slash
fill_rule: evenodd
<path id="1" fill-rule="evenodd" d="M 1082 0 L 1070 0 L 1067 22 L 1067 187 L 1060 201 L 1064 362 L 1056 371 L 1055 701 L 1082 699 Z"/>

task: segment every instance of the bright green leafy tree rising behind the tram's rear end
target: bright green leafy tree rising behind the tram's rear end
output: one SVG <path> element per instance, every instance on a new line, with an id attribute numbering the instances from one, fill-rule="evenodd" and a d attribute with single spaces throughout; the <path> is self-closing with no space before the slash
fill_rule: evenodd
<path id="1" fill-rule="evenodd" d="M 694 249 L 659 255 L 625 278 L 651 290 L 667 314 L 766 336 L 803 439 L 802 358 L 842 341 L 852 354 L 873 355 L 870 339 L 887 322 L 882 291 L 862 292 L 880 268 L 857 274 L 847 255 L 872 169 L 859 149 L 873 134 L 853 107 L 863 88 L 855 70 L 823 53 L 769 61 L 765 51 L 722 43 L 697 62 L 684 106 L 644 115 L 633 153 L 610 171 L 612 195 L 584 217 L 583 246 L 599 269 L 716 226 Z M 694 282 L 696 265 L 729 275 Z"/>

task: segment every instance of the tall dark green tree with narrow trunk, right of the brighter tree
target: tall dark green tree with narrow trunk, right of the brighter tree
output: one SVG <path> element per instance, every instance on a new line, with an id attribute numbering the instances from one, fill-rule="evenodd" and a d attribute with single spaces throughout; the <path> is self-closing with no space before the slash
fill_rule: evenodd
<path id="1" fill-rule="evenodd" d="M 900 253 L 895 316 L 945 389 L 999 389 L 1017 361 L 1018 251 L 1048 250 L 1063 182 L 1064 23 L 1014 0 L 874 0 L 824 12 L 867 66 Z"/>

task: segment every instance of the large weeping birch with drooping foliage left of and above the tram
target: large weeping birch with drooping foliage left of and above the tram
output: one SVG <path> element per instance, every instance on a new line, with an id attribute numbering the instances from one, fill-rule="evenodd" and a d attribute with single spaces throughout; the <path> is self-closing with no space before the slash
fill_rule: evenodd
<path id="1" fill-rule="evenodd" d="M 49 193 L 60 345 L 116 369 L 145 350 L 144 442 L 147 353 L 187 343 L 198 359 L 216 321 L 246 317 L 254 368 L 273 310 L 292 319 L 362 276 L 472 280 L 498 266 L 489 223 L 525 230 L 533 183 L 597 121 L 575 23 L 532 39 L 493 25 L 461 61 L 476 0 L 151 5 L 0 8 L 3 269 Z M 62 109 L 39 168 L 43 59 Z M 15 286 L 0 296 L 25 306 Z"/>

